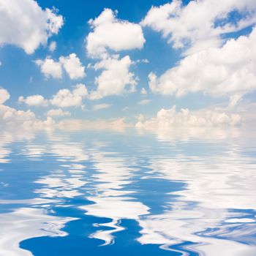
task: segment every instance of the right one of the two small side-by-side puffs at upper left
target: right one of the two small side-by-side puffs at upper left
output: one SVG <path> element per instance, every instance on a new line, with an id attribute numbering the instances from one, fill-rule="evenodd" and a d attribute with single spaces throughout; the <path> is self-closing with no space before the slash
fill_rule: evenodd
<path id="1" fill-rule="evenodd" d="M 84 67 L 75 53 L 71 53 L 67 57 L 61 56 L 59 62 L 63 65 L 70 79 L 84 78 L 86 76 Z"/>

